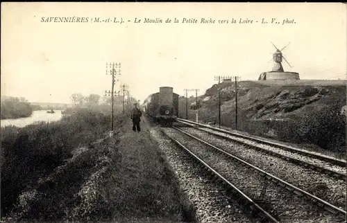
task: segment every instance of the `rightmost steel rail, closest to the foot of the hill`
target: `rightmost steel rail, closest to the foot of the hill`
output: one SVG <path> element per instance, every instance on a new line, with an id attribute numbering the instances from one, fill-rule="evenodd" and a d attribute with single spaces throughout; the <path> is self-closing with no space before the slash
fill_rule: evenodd
<path id="1" fill-rule="evenodd" d="M 271 141 L 267 141 L 266 139 L 257 139 L 253 136 L 246 136 L 244 134 L 239 134 L 239 133 L 235 133 L 235 132 L 230 132 L 228 130 L 223 130 L 223 129 L 220 129 L 220 128 L 217 128 L 217 127 L 212 127 L 212 126 L 208 126 L 208 125 L 204 125 L 204 124 L 201 124 L 201 123 L 195 123 L 193 121 L 189 121 L 189 120 L 185 120 L 185 119 L 182 119 L 182 118 L 177 118 L 178 121 L 180 121 L 181 123 L 190 123 L 192 125 L 198 125 L 198 126 L 201 126 L 201 127 L 205 127 L 205 128 L 208 128 L 210 130 L 215 130 L 217 132 L 223 132 L 225 134 L 230 134 L 232 136 L 238 136 L 240 138 L 243 138 L 243 139 L 248 139 L 248 140 L 252 140 L 252 141 L 256 141 L 258 143 L 263 143 L 263 144 L 266 144 L 266 145 L 271 145 L 273 147 L 277 147 L 277 148 L 281 148 L 281 149 L 284 149 L 284 150 L 287 150 L 287 151 L 290 151 L 290 152 L 296 152 L 298 154 L 303 154 L 307 157 L 312 157 L 312 158 L 316 158 L 316 159 L 321 159 L 323 161 L 328 161 L 330 163 L 333 163 L 333 164 L 336 164 L 338 166 L 342 166 L 342 167 L 346 167 L 347 165 L 347 162 L 344 161 L 344 160 L 341 160 L 341 159 L 336 159 L 334 157 L 328 157 L 328 156 L 325 156 L 323 154 L 316 154 L 314 152 L 310 152 L 310 151 L 305 151 L 305 150 L 301 150 L 301 149 L 298 149 L 298 148 L 294 148 L 292 146 L 289 146 L 289 145 L 284 145 L 284 144 L 280 144 L 280 143 L 275 143 L 275 142 L 271 142 Z"/>

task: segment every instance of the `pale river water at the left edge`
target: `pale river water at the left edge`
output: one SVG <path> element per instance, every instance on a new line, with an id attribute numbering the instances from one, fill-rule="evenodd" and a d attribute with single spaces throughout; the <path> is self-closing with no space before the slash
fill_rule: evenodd
<path id="1" fill-rule="evenodd" d="M 54 110 L 56 113 L 50 114 L 47 113 L 46 110 L 33 111 L 33 114 L 27 118 L 14 118 L 14 119 L 2 119 L 1 127 L 5 127 L 7 125 L 15 125 L 17 127 L 24 127 L 26 125 L 30 125 L 37 121 L 51 122 L 58 121 L 62 118 L 62 112 L 60 110 Z"/>

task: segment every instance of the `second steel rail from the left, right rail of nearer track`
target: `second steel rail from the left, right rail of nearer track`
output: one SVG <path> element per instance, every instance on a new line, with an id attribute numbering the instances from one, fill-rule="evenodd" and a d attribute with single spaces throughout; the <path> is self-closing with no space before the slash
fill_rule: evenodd
<path id="1" fill-rule="evenodd" d="M 225 150 L 221 150 L 221 149 L 217 148 L 216 146 L 211 145 L 210 143 L 208 143 L 206 141 L 203 141 L 202 139 L 198 139 L 198 138 L 196 138 L 196 136 L 193 136 L 193 135 L 191 135 L 191 134 L 189 134 L 183 130 L 180 130 L 177 127 L 172 127 L 172 128 L 175 130 L 178 130 L 179 132 L 182 132 L 183 134 L 186 134 L 187 136 L 190 136 L 193 139 L 196 139 L 197 141 L 200 141 L 201 143 L 203 143 L 205 145 L 210 146 L 211 148 L 214 148 L 215 150 L 218 150 L 219 152 L 222 152 L 223 154 L 226 154 L 228 157 L 231 157 L 232 159 L 235 159 L 241 163 L 244 163 L 246 166 L 249 166 L 249 167 L 253 168 L 254 170 L 257 170 L 262 175 L 266 175 L 267 177 L 270 177 L 272 180 L 278 181 L 278 183 L 281 186 L 285 186 L 285 188 L 287 188 L 287 190 L 290 190 L 290 191 L 294 190 L 294 193 L 296 193 L 297 195 L 305 195 L 306 197 L 309 197 L 310 199 L 313 199 L 314 201 L 319 202 L 320 204 L 322 204 L 324 206 L 325 210 L 329 211 L 330 213 L 334 213 L 334 214 L 339 213 L 339 214 L 343 214 L 346 217 L 346 211 L 344 211 L 343 209 L 338 208 L 337 206 L 334 206 L 328 202 L 325 202 L 323 199 L 316 197 L 316 196 L 306 192 L 305 190 L 302 190 L 301 188 L 298 188 L 292 184 L 289 184 L 288 182 L 283 181 L 282 179 L 279 179 L 278 177 L 271 175 L 269 172 L 266 172 L 260 168 L 257 168 L 256 166 L 253 166 L 251 163 L 248 163 L 242 159 L 239 159 L 238 157 L 235 157 L 234 155 L 226 152 Z"/>

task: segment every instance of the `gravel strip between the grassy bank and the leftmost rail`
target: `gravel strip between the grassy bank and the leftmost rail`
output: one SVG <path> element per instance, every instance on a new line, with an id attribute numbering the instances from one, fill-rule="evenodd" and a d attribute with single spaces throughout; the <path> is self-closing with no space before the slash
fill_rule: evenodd
<path id="1" fill-rule="evenodd" d="M 150 132 L 166 154 L 180 187 L 194 204 L 198 222 L 258 222 L 246 216 L 243 207 L 235 200 L 228 199 L 221 186 L 203 175 L 201 167 L 192 161 L 187 152 L 178 148 L 155 128 Z"/>

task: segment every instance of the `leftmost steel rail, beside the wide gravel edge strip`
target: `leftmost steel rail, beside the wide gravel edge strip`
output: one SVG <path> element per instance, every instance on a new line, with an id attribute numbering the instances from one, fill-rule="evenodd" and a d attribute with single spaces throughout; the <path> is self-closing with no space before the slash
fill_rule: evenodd
<path id="1" fill-rule="evenodd" d="M 235 190 L 237 193 L 239 193 L 239 195 L 241 195 L 244 199 L 247 200 L 247 202 L 249 202 L 248 204 L 251 204 L 253 206 L 255 206 L 255 208 L 257 208 L 257 210 L 261 211 L 261 213 L 263 213 L 266 218 L 268 218 L 269 220 L 271 220 L 271 222 L 278 222 L 278 220 L 276 220 L 275 217 L 273 217 L 270 213 L 268 213 L 267 211 L 265 211 L 259 204 L 255 203 L 253 201 L 253 199 L 251 199 L 250 197 L 248 197 L 247 195 L 245 195 L 241 190 L 239 190 L 239 188 L 237 188 L 234 184 L 230 183 L 230 181 L 228 181 L 226 178 L 224 178 L 222 175 L 220 175 L 216 170 L 214 170 L 212 167 L 210 167 L 208 165 L 208 163 L 205 163 L 205 161 L 203 161 L 202 159 L 200 159 L 198 156 L 196 156 L 196 154 L 194 154 L 192 151 L 190 151 L 188 148 L 186 148 L 184 145 L 182 145 L 179 141 L 177 141 L 176 139 L 172 138 L 171 136 L 169 136 L 169 134 L 167 134 L 166 132 L 164 132 L 164 130 L 162 130 L 160 128 L 161 132 L 167 136 L 171 141 L 173 141 L 174 143 L 176 143 L 176 145 L 180 146 L 180 148 L 183 148 L 185 151 L 187 151 L 190 155 L 192 155 L 192 157 L 194 157 L 195 159 L 197 159 L 200 163 L 203 164 L 203 166 L 205 166 L 205 168 L 208 168 L 210 171 L 212 171 L 214 173 L 214 175 L 217 175 L 217 177 L 219 177 L 220 179 L 222 179 L 226 184 L 228 184 L 228 186 L 230 186 L 233 190 Z M 278 222 L 279 223 L 279 222 Z"/>

